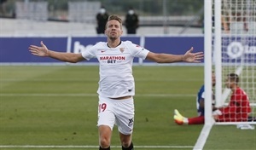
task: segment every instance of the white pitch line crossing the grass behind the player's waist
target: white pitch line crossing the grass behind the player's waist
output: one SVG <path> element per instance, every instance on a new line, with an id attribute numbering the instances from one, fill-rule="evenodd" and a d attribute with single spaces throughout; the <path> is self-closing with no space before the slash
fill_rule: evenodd
<path id="1" fill-rule="evenodd" d="M 58 94 L 58 93 L 53 93 L 53 94 L 31 94 L 31 93 L 23 93 L 23 94 L 15 94 L 15 93 L 9 93 L 9 94 L 0 94 L 0 96 L 97 96 L 96 94 Z M 141 96 L 141 97 L 191 97 L 195 96 L 195 94 L 137 94 L 136 96 Z"/>

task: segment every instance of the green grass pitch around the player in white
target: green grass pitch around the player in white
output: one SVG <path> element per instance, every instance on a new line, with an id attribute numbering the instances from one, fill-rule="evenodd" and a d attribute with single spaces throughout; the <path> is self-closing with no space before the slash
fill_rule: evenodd
<path id="1" fill-rule="evenodd" d="M 0 149 L 98 149 L 98 69 L 0 66 Z M 133 74 L 136 149 L 192 149 L 203 125 L 177 125 L 173 110 L 177 108 L 187 117 L 197 115 L 195 97 L 203 84 L 203 66 L 133 66 Z M 119 146 L 116 127 L 112 137 L 111 145 Z M 204 149 L 253 150 L 256 132 L 237 130 L 235 125 L 214 125 Z"/>

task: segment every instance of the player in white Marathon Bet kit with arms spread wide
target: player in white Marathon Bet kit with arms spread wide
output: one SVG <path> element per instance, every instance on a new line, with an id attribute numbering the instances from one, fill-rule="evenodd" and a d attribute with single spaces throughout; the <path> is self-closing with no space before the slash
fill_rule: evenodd
<path id="1" fill-rule="evenodd" d="M 29 47 L 32 55 L 51 57 L 59 61 L 79 62 L 96 58 L 100 63 L 100 81 L 97 90 L 99 98 L 98 131 L 99 150 L 110 150 L 113 125 L 117 124 L 123 150 L 132 150 L 131 135 L 134 123 L 135 84 L 132 76 L 134 57 L 158 63 L 200 62 L 202 52 L 192 53 L 189 49 L 184 55 L 157 54 L 148 49 L 121 41 L 122 20 L 118 15 L 111 15 L 106 24 L 105 34 L 108 42 L 99 42 L 81 54 L 60 53 L 49 50 L 43 42 L 41 46 Z"/>

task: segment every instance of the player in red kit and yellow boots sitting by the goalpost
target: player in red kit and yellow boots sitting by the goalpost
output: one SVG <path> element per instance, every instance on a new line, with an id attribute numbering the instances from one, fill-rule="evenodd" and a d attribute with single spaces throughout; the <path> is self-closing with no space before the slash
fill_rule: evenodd
<path id="1" fill-rule="evenodd" d="M 212 75 L 213 77 L 213 75 Z M 215 84 L 215 79 L 212 79 Z M 248 116 L 251 113 L 247 94 L 238 86 L 239 77 L 235 73 L 230 73 L 226 79 L 226 86 L 232 90 L 230 104 L 227 107 L 212 107 L 213 118 L 218 122 L 241 122 L 256 121 L 256 118 Z M 199 92 L 200 95 L 200 92 Z M 204 111 L 203 111 L 204 112 Z M 201 114 L 201 113 L 200 113 Z M 177 109 L 174 110 L 174 120 L 177 124 L 204 124 L 204 116 L 195 118 L 185 118 Z"/>

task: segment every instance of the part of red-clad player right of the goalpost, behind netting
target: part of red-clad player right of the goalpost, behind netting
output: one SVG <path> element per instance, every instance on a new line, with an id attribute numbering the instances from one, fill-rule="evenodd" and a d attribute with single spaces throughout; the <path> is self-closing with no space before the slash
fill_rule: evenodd
<path id="1" fill-rule="evenodd" d="M 250 101 L 247 93 L 238 86 L 239 77 L 236 73 L 228 74 L 225 85 L 231 89 L 230 103 L 227 107 L 219 107 L 213 112 L 217 122 L 248 121 L 251 113 Z"/>

